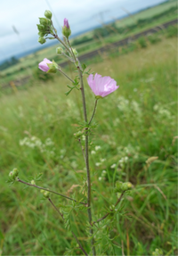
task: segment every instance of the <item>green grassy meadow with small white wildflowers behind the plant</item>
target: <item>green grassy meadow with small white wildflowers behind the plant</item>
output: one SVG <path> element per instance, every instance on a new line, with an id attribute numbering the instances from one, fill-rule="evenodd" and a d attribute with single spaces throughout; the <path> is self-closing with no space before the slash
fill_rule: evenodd
<path id="1" fill-rule="evenodd" d="M 121 203 L 124 208 L 116 215 L 116 225 L 110 230 L 111 238 L 117 235 L 114 243 L 124 244 L 127 256 L 151 255 L 156 248 L 161 248 L 166 256 L 178 255 L 175 225 L 178 140 L 173 143 L 178 135 L 176 45 L 176 38 L 167 38 L 129 54 L 105 57 L 91 66 L 94 72 L 115 78 L 119 85 L 115 93 L 99 101 L 94 118 L 98 127 L 91 136 L 90 148 L 95 152 L 91 155 L 93 219 L 100 218 L 116 202 L 114 179 L 132 182 L 133 192 L 125 196 Z M 69 75 L 74 78 L 74 73 Z M 66 248 L 76 246 L 71 233 L 49 202 L 42 200 L 39 191 L 31 187 L 24 189 L 19 183 L 12 187 L 5 183 L 13 168 L 20 170 L 21 179 L 43 172 L 43 181 L 37 185 L 77 199 L 85 196 L 80 187 L 70 189 L 73 185 L 85 188 L 85 164 L 73 136 L 83 119 L 81 95 L 73 91 L 66 97 L 66 84 L 67 80 L 58 76 L 53 83 L 36 80 L 34 87 L 11 95 L 1 93 L 0 248 L 3 255 L 63 255 Z M 94 97 L 86 79 L 85 91 L 90 116 Z M 20 140 L 31 136 L 43 144 L 51 138 L 53 145 L 45 145 L 44 152 L 38 147 L 20 145 Z M 96 151 L 95 145 L 101 149 Z M 118 161 L 125 156 L 128 161 L 121 166 Z M 147 168 L 145 161 L 151 156 L 158 156 L 158 160 Z M 104 178 L 102 170 L 107 171 Z M 71 205 L 55 195 L 52 199 L 58 206 Z M 71 225 L 88 251 L 86 219 L 85 210 L 77 216 L 73 212 Z M 73 255 L 82 252 L 75 250 Z M 105 255 L 123 254 L 116 247 L 114 254 L 108 251 Z"/>

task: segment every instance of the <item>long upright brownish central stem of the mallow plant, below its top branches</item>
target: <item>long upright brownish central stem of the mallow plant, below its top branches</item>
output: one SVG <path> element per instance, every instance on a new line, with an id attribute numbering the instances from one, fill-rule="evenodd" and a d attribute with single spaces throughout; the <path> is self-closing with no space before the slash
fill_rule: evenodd
<path id="1" fill-rule="evenodd" d="M 86 104 L 85 104 L 85 90 L 84 90 L 84 81 L 82 71 L 80 70 L 79 66 L 77 66 L 78 75 L 80 78 L 80 86 L 81 86 L 81 93 L 82 93 L 82 101 L 83 101 L 83 111 L 84 111 L 84 120 L 87 122 L 87 114 L 86 114 Z M 87 173 L 87 206 L 88 206 L 88 220 L 91 224 L 90 234 L 93 235 L 93 227 L 92 227 L 92 211 L 91 211 L 91 178 L 90 178 L 90 168 L 89 168 L 89 154 L 88 154 L 88 134 L 87 128 L 85 128 L 85 166 L 86 166 L 86 173 Z M 96 256 L 95 247 L 94 247 L 94 238 L 92 238 L 92 250 L 93 256 Z"/>

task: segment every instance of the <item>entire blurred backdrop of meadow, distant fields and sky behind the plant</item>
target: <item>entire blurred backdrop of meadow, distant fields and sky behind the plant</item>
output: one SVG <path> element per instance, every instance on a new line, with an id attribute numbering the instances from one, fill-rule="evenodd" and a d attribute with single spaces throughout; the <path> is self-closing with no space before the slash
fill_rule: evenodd
<path id="1" fill-rule="evenodd" d="M 131 182 L 133 192 L 119 205 L 115 225 L 105 229 L 110 239 L 98 230 L 98 255 L 150 256 L 156 249 L 178 255 L 178 1 L 7 0 L 0 6 L 0 255 L 65 255 L 67 249 L 82 255 L 39 191 L 6 183 L 18 168 L 22 180 L 43 173 L 38 186 L 85 197 L 85 164 L 73 136 L 83 119 L 80 94 L 74 89 L 66 96 L 69 82 L 61 73 L 38 69 L 48 58 L 76 77 L 73 64 L 56 54 L 58 41 L 37 42 L 36 24 L 45 10 L 53 12 L 59 37 L 63 19 L 69 20 L 71 45 L 86 70 L 119 85 L 99 101 L 94 117 L 93 219 L 117 201 L 117 180 Z M 90 117 L 94 96 L 86 78 Z M 148 163 L 150 157 L 156 158 Z M 52 199 L 70 214 L 72 230 L 89 252 L 85 210 L 70 211 L 70 202 Z"/>

